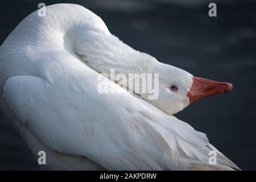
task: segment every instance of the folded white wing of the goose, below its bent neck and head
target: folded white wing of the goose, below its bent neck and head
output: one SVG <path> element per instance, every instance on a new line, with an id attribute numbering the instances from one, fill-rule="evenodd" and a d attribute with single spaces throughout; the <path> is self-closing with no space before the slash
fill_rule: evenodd
<path id="1" fill-rule="evenodd" d="M 128 92 L 98 93 L 100 82 L 124 90 L 107 78 L 99 80 L 73 55 L 62 52 L 44 59 L 49 60 L 44 61 L 47 69 L 38 64 L 39 76 L 10 77 L 3 95 L 47 147 L 85 156 L 106 169 L 209 166 L 205 134 Z M 61 63 L 51 65 L 53 59 Z M 216 168 L 236 167 L 218 155 Z"/>

